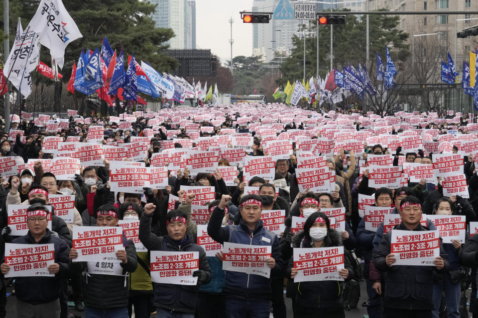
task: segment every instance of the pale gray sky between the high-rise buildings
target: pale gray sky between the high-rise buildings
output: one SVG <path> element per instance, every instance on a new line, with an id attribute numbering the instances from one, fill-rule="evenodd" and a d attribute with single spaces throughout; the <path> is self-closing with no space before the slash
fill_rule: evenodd
<path id="1" fill-rule="evenodd" d="M 242 23 L 239 11 L 250 10 L 252 0 L 196 0 L 196 48 L 211 49 L 221 62 L 231 59 L 231 24 L 233 56 L 252 55 L 252 25 Z"/>

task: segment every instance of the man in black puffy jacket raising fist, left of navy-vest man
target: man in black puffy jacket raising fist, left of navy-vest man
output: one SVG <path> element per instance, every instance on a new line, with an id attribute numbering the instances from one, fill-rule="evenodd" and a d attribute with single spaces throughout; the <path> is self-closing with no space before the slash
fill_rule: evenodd
<path id="1" fill-rule="evenodd" d="M 152 214 L 156 206 L 148 203 L 139 219 L 139 240 L 148 250 L 199 252 L 199 270 L 193 272 L 198 277 L 197 285 L 159 284 L 153 282 L 154 299 L 158 318 L 194 318 L 198 303 L 200 285 L 211 281 L 211 269 L 206 252 L 194 239 L 186 234 L 186 215 L 171 210 L 166 216 L 168 235 L 157 237 L 151 233 Z M 173 315 L 174 314 L 174 315 Z"/>

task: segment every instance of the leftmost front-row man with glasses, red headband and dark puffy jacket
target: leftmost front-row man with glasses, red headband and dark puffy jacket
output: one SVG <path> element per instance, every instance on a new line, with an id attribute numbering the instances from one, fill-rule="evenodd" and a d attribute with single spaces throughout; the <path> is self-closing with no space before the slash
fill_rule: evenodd
<path id="1" fill-rule="evenodd" d="M 67 243 L 52 235 L 47 224 L 48 209 L 41 204 L 33 204 L 27 209 L 28 233 L 14 239 L 17 244 L 54 244 L 55 262 L 47 270 L 52 277 L 17 277 L 15 280 L 16 317 L 59 318 L 60 317 L 60 278 L 67 277 L 69 271 Z M 10 266 L 1 264 L 2 274 L 8 273 Z"/>

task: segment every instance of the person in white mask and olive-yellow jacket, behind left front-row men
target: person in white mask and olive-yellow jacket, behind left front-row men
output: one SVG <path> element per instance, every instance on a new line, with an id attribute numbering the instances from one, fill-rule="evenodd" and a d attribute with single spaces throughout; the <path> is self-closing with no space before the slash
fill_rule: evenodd
<path id="1" fill-rule="evenodd" d="M 127 223 L 139 222 L 138 220 L 142 213 L 143 208 L 141 206 L 134 203 L 125 203 L 119 206 L 118 218 Z M 127 237 L 128 232 L 123 232 Z M 136 247 L 138 246 L 136 245 Z M 136 256 L 138 267 L 129 275 L 128 313 L 131 315 L 132 306 L 134 306 L 135 317 L 149 318 L 153 299 L 153 287 L 151 277 L 148 274 L 150 267 L 149 255 L 147 251 L 141 252 L 136 249 Z"/>

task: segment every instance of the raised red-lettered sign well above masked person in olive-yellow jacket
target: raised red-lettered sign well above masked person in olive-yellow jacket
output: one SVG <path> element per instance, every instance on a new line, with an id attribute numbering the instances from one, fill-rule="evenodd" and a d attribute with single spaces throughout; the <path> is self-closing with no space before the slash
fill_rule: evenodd
<path id="1" fill-rule="evenodd" d="M 149 170 L 126 162 L 110 162 L 111 191 L 143 193 L 143 187 L 149 187 Z"/>

